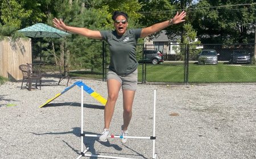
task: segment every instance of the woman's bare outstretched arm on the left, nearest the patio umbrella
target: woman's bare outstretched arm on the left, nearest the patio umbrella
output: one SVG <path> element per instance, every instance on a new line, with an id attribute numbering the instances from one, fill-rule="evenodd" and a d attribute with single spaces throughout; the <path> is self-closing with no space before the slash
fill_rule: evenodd
<path id="1" fill-rule="evenodd" d="M 67 26 L 62 19 L 57 19 L 57 18 L 53 18 L 52 20 L 53 25 L 56 28 L 59 28 L 60 30 L 65 30 L 65 31 L 70 31 L 76 34 L 80 34 L 86 37 L 90 37 L 93 39 L 102 39 L 100 31 L 93 31 L 93 30 L 89 30 L 88 28 L 79 28 L 79 27 L 71 27 L 71 26 Z"/>

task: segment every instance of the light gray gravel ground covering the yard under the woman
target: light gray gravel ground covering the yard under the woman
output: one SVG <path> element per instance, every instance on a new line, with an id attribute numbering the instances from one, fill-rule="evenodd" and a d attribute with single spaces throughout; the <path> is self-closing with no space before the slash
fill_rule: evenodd
<path id="1" fill-rule="evenodd" d="M 106 82 L 82 81 L 107 97 Z M 79 87 L 38 108 L 63 91 L 65 82 L 56 86 L 57 79 L 51 78 L 43 82 L 42 90 L 32 91 L 20 90 L 20 82 L 0 86 L 0 158 L 79 156 Z M 138 85 L 129 136 L 152 136 L 154 89 L 157 158 L 256 158 L 256 83 Z M 119 135 L 121 124 L 120 92 L 111 133 Z M 103 127 L 104 106 L 84 93 L 84 132 L 99 134 Z M 87 153 L 152 158 L 151 140 L 129 139 L 122 145 L 120 139 L 100 143 L 96 137 L 86 137 L 84 145 L 90 147 Z"/>

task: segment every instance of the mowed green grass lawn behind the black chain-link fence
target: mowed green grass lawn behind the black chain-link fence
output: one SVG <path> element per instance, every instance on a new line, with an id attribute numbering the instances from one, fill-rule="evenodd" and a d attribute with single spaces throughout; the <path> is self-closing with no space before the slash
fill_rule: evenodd
<path id="1" fill-rule="evenodd" d="M 102 73 L 90 71 L 71 72 L 69 76 L 102 79 Z M 142 65 L 138 66 L 138 81 L 142 81 Z M 146 81 L 184 83 L 184 65 L 146 65 Z M 197 65 L 191 63 L 189 64 L 188 82 L 256 82 L 256 66 L 229 65 L 221 62 L 218 65 Z"/>

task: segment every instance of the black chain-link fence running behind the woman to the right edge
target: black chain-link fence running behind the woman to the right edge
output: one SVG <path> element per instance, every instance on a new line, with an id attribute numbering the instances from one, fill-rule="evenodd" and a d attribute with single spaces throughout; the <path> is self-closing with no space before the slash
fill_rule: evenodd
<path id="1" fill-rule="evenodd" d="M 255 44 L 137 45 L 138 61 L 145 58 L 144 52 L 148 50 L 160 51 L 164 60 L 159 64 L 140 62 L 138 83 L 256 82 L 254 47 Z M 217 64 L 209 62 L 200 65 L 198 61 L 202 51 L 215 51 Z M 238 52 L 243 53 L 235 57 Z M 108 72 L 109 57 L 108 47 L 105 46 L 105 74 Z M 214 57 L 204 58 L 209 60 Z M 106 75 L 103 80 L 106 80 Z"/>

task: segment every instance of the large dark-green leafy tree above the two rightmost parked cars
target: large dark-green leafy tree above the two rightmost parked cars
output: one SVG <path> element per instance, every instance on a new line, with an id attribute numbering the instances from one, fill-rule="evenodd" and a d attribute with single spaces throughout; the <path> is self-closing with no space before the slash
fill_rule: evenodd
<path id="1" fill-rule="evenodd" d="M 253 0 L 201 0 L 196 7 L 192 25 L 203 43 L 253 42 L 256 20 Z"/>

